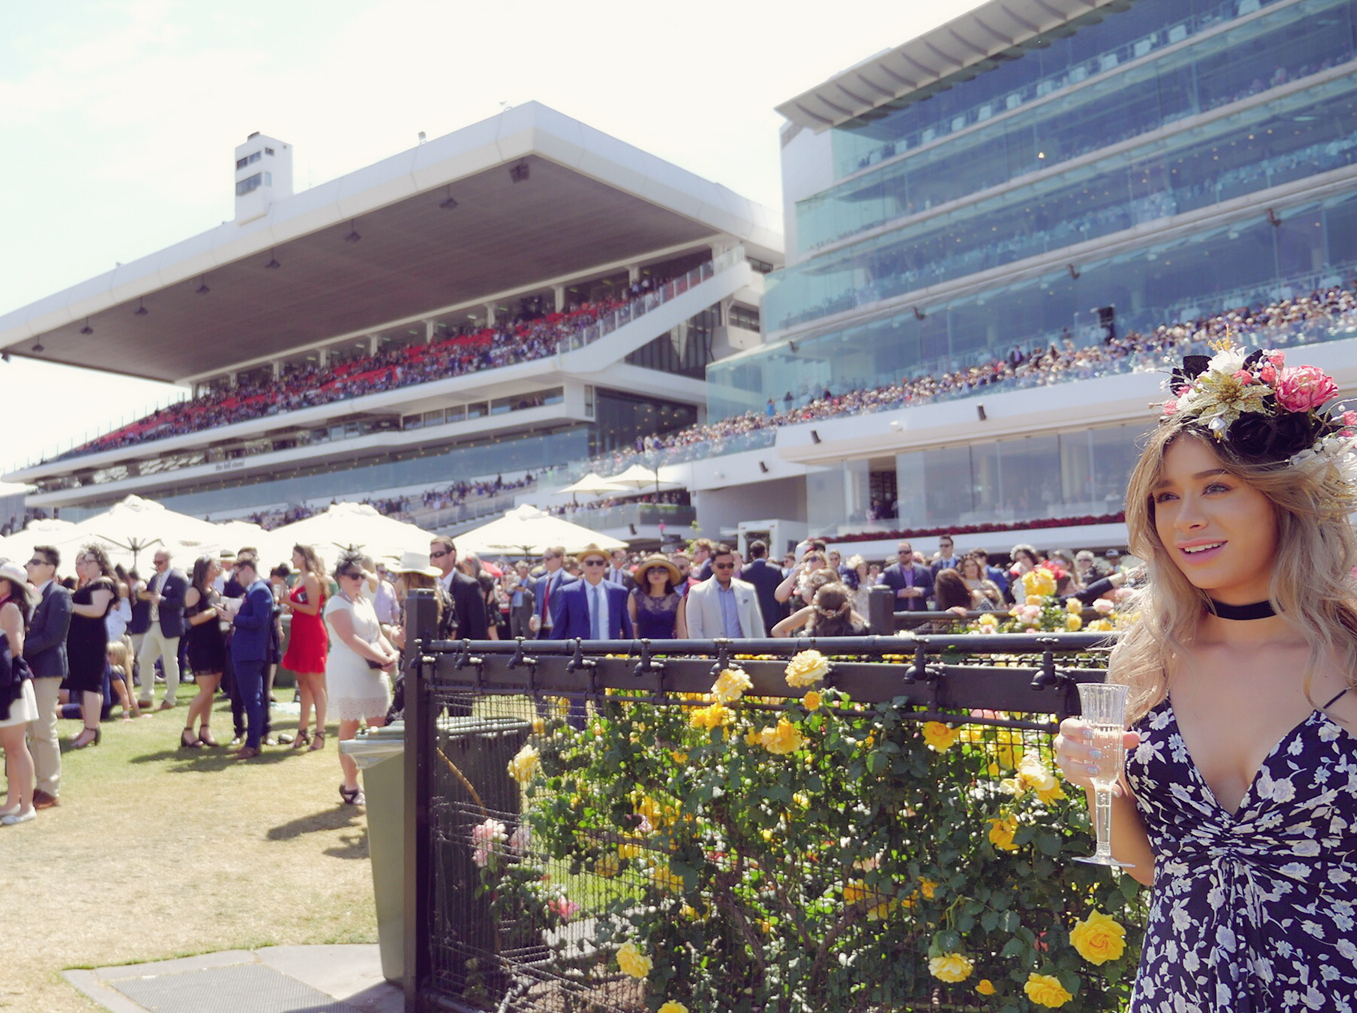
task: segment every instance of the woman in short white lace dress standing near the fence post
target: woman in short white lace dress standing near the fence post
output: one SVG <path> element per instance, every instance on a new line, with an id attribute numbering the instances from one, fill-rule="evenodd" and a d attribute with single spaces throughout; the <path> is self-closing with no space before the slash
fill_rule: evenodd
<path id="1" fill-rule="evenodd" d="M 326 603 L 330 627 L 330 656 L 326 660 L 326 686 L 330 713 L 339 718 L 339 741 L 353 739 L 358 725 L 380 728 L 391 706 L 391 672 L 400 656 L 381 633 L 372 600 L 364 596 L 362 557 L 343 553 L 334 569 L 339 593 Z M 358 765 L 339 751 L 343 784 L 339 797 L 349 805 L 362 805 L 366 798 L 358 788 Z"/>

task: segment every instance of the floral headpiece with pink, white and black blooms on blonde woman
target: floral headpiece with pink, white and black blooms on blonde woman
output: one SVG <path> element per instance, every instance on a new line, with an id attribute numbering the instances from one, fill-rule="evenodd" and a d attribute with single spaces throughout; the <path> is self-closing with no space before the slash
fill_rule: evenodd
<path id="1" fill-rule="evenodd" d="M 1229 338 L 1213 356 L 1186 356 L 1168 380 L 1160 422 L 1194 424 L 1248 464 L 1320 471 L 1326 509 L 1357 505 L 1357 411 L 1331 405 L 1338 384 L 1314 365 L 1285 364 L 1276 349 L 1244 349 Z"/>

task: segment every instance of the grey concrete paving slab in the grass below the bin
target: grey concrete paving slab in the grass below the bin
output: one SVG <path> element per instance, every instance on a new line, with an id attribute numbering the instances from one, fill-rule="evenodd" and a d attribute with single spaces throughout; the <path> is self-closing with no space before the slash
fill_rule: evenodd
<path id="1" fill-rule="evenodd" d="M 66 971 L 110 1013 L 403 1013 L 376 945 L 267 946 Z"/>

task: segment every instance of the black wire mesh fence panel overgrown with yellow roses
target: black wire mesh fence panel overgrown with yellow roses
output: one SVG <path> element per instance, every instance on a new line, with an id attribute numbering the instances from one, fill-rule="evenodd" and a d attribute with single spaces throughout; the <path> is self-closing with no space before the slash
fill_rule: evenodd
<path id="1" fill-rule="evenodd" d="M 961 665 L 957 644 L 928 660 L 887 640 L 803 680 L 786 642 L 427 652 L 421 993 L 502 1013 L 897 1013 L 1057 989 L 1120 1009 L 1140 888 L 1072 861 L 1087 811 L 1050 759 L 1069 690 L 1102 678 L 1092 638 L 1061 648 L 1077 653 L 1053 683 L 1049 641 Z M 1075 932 L 1088 913 L 1124 936 L 1099 964 Z"/>

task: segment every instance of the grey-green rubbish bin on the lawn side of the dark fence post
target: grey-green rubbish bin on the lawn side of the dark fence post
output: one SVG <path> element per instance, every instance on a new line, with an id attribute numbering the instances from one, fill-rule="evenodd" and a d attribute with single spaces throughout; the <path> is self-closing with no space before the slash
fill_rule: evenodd
<path id="1" fill-rule="evenodd" d="M 406 724 L 369 728 L 339 743 L 339 751 L 353 756 L 362 771 L 381 975 L 399 984 L 406 967 Z"/>

